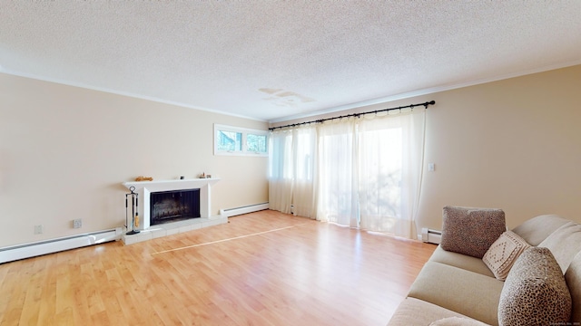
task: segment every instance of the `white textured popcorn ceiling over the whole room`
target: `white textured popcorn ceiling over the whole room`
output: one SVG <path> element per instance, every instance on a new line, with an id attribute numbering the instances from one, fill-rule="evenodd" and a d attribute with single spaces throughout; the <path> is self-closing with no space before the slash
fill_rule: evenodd
<path id="1" fill-rule="evenodd" d="M 0 0 L 0 72 L 256 120 L 577 63 L 580 0 Z"/>

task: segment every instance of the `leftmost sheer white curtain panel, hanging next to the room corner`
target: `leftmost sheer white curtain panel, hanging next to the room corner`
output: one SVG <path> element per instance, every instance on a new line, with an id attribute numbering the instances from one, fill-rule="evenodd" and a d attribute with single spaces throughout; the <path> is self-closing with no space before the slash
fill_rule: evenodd
<path id="1" fill-rule="evenodd" d="M 314 218 L 317 129 L 307 126 L 273 131 L 270 146 L 270 208 Z"/>

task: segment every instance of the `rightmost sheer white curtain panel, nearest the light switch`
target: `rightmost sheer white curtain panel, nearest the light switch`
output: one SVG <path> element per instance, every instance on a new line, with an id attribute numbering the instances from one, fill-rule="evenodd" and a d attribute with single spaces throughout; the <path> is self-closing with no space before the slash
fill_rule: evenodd
<path id="1" fill-rule="evenodd" d="M 415 237 L 425 109 L 359 123 L 360 227 Z"/>

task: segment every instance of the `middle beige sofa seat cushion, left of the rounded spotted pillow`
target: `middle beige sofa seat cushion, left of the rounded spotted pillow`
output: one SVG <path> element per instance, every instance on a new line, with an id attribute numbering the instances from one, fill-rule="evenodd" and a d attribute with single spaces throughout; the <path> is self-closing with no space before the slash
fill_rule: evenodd
<path id="1" fill-rule="evenodd" d="M 497 325 L 498 300 L 503 284 L 494 277 L 428 262 L 411 284 L 408 296 Z"/>

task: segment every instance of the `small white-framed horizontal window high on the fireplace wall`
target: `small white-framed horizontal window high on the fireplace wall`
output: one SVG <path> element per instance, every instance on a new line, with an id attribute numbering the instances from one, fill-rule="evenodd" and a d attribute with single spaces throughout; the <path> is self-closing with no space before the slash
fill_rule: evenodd
<path id="1" fill-rule="evenodd" d="M 268 156 L 268 131 L 214 124 L 214 155 Z"/>

